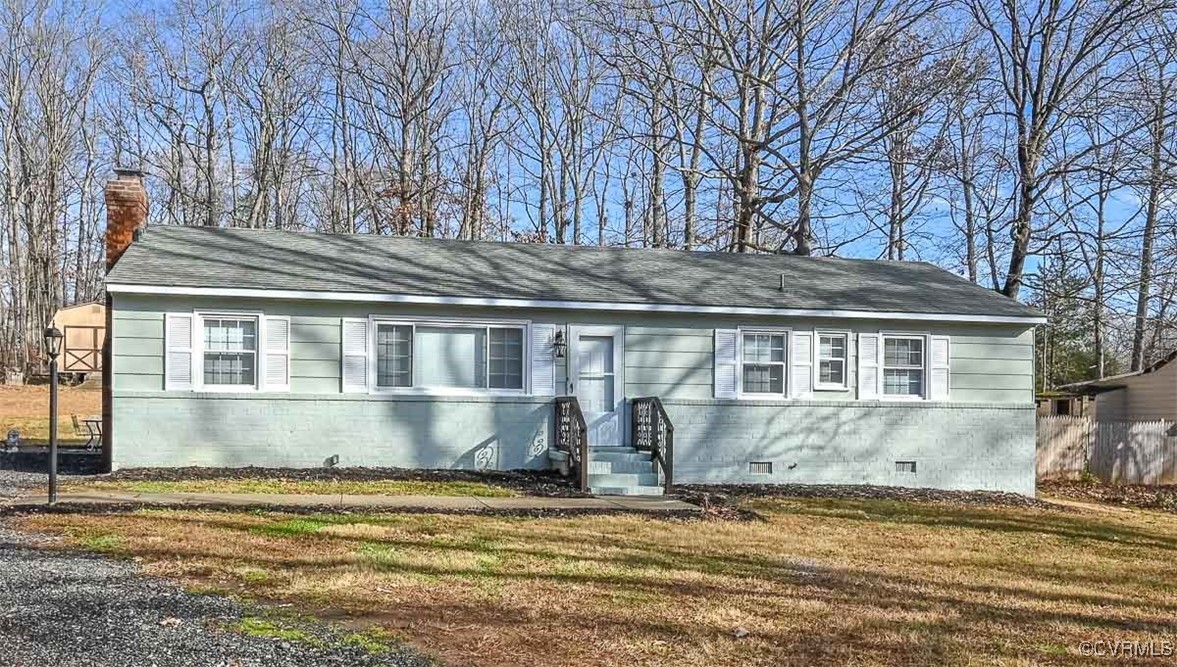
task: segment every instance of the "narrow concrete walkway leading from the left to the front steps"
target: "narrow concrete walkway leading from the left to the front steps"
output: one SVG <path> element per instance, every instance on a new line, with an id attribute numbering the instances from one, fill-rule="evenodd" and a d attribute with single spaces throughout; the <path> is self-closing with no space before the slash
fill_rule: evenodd
<path id="1" fill-rule="evenodd" d="M 7 507 L 46 503 L 45 495 L 25 495 Z M 301 495 L 271 493 L 133 493 L 78 491 L 58 494 L 59 505 L 144 505 L 168 507 L 324 507 L 332 509 L 411 509 L 440 512 L 501 511 L 605 511 L 605 512 L 699 512 L 681 500 L 659 496 L 594 498 L 478 498 L 472 495 Z"/>

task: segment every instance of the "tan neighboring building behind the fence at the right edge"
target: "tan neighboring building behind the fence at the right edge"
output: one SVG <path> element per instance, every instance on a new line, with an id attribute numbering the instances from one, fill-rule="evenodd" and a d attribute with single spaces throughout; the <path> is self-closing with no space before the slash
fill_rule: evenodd
<path id="1" fill-rule="evenodd" d="M 1068 385 L 1093 394 L 1099 421 L 1177 421 L 1177 351 L 1133 373 Z"/>

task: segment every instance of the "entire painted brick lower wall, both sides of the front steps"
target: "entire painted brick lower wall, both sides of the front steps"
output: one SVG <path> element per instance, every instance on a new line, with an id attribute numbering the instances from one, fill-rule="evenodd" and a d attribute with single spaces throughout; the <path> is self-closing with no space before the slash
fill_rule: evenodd
<path id="1" fill-rule="evenodd" d="M 120 393 L 118 467 L 546 468 L 540 398 Z M 1033 406 L 664 400 L 676 481 L 1032 494 Z M 771 474 L 750 462 L 771 462 Z M 897 472 L 913 461 L 916 472 Z"/>

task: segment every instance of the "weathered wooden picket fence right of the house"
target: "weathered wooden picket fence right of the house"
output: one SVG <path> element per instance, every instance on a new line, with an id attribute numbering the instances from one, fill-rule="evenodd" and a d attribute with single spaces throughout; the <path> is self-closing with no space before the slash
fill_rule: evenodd
<path id="1" fill-rule="evenodd" d="M 1038 418 L 1038 476 L 1106 483 L 1177 483 L 1177 423 Z"/>

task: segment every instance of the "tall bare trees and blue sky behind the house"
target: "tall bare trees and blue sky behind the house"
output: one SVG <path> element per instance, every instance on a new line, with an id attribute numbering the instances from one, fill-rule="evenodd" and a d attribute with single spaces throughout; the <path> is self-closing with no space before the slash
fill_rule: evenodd
<path id="1" fill-rule="evenodd" d="M 1177 342 L 1172 0 L 0 1 L 4 369 L 112 165 L 153 224 L 932 259 L 1053 368 Z"/>

